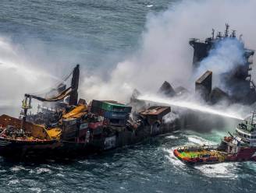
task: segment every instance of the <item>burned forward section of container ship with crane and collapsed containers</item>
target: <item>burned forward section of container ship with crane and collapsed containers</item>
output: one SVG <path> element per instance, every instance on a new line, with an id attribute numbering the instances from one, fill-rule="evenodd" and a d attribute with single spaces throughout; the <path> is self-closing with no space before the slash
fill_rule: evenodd
<path id="1" fill-rule="evenodd" d="M 0 156 L 23 160 L 85 156 L 141 142 L 175 128 L 163 120 L 170 107 L 147 107 L 131 117 L 132 107 L 116 101 L 78 101 L 79 75 L 77 65 L 71 86 L 59 85 L 55 96 L 25 94 L 20 119 L 0 116 Z M 54 107 L 41 107 L 43 112 L 28 114 L 32 99 Z"/>

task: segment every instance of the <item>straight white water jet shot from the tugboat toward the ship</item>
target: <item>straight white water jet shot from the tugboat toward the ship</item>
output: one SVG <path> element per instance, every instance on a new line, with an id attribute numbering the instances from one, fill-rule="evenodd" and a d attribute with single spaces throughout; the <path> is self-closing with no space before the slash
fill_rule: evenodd
<path id="1" fill-rule="evenodd" d="M 215 114 L 226 118 L 235 118 L 239 120 L 243 120 L 244 116 L 229 112 L 225 110 L 219 110 L 215 109 L 215 107 L 210 107 L 206 104 L 199 104 L 196 102 L 186 101 L 186 100 L 179 100 L 179 99 L 166 99 L 162 98 L 160 96 L 151 96 L 151 95 L 144 95 L 144 96 L 138 96 L 138 100 L 147 100 L 158 104 L 169 104 L 176 107 L 183 107 L 194 111 L 201 111 L 207 114 Z"/>

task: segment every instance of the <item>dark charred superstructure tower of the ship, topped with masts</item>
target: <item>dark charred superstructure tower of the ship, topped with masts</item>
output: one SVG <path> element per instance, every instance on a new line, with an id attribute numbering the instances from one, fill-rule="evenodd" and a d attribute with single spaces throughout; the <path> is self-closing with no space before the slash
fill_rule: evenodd
<path id="1" fill-rule="evenodd" d="M 226 30 L 224 33 L 218 32 L 215 34 L 215 30 L 212 30 L 212 37 L 208 37 L 204 41 L 196 38 L 190 39 L 189 44 L 194 48 L 194 72 L 197 72 L 201 67 L 201 62 L 204 61 L 205 58 L 208 58 L 211 51 L 225 40 L 233 40 L 233 42 L 239 44 L 241 52 L 243 53 L 243 60 L 240 61 L 239 64 L 235 64 L 229 72 L 223 73 L 220 76 L 226 90 L 223 91 L 221 90 L 222 88 L 215 88 L 212 90 L 212 93 L 206 93 L 208 97 L 204 96 L 203 98 L 204 100 L 210 100 L 210 102 L 215 103 L 215 100 L 221 100 L 221 97 L 215 99 L 216 96 L 229 96 L 229 100 L 233 102 L 253 104 L 256 101 L 255 84 L 251 79 L 254 50 L 247 49 L 247 47 L 245 47 L 242 35 L 240 35 L 239 38 L 236 37 L 236 30 L 232 30 L 232 33 L 229 33 L 228 24 L 226 24 Z M 213 74 L 214 73 L 215 72 L 213 72 Z M 206 89 L 208 90 L 209 87 Z M 205 95 L 204 90 L 201 93 Z M 210 95 L 212 95 L 212 97 Z"/>

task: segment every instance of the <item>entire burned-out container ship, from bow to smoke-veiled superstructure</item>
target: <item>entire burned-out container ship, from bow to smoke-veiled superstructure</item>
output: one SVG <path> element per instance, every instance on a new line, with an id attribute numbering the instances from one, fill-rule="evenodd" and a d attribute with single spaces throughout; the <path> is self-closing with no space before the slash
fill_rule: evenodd
<path id="1" fill-rule="evenodd" d="M 227 38 L 237 40 L 235 32 L 229 35 L 228 30 L 227 25 L 225 35 L 218 33 L 215 37 L 213 33 L 204 42 L 190 40 L 190 45 L 194 47 L 194 70 L 200 67 L 201 61 L 208 57 L 215 44 Z M 244 49 L 244 62 L 222 75 L 229 92 L 217 87 L 212 89 L 212 75 L 215 72 L 207 71 L 195 82 L 196 93 L 208 104 L 223 99 L 242 104 L 253 104 L 256 101 L 255 86 L 250 75 L 250 58 L 254 51 L 245 48 L 241 41 L 240 44 Z M 0 156 L 18 159 L 85 156 L 129 146 L 150 136 L 180 128 L 212 128 L 225 122 L 219 117 L 213 119 L 212 115 L 185 109 L 185 113 L 177 111 L 179 118 L 167 123 L 164 117 L 170 113 L 170 107 L 148 106 L 146 102 L 137 100 L 138 91 L 133 93 L 130 105 L 112 100 L 92 100 L 87 104 L 86 100 L 78 100 L 79 65 L 71 75 L 69 87 L 64 83 L 65 79 L 44 96 L 25 94 L 20 118 L 5 114 L 0 116 Z M 190 94 L 182 86 L 173 89 L 169 82 L 164 82 L 158 93 L 168 97 Z M 38 106 L 37 114 L 28 113 L 32 99 L 43 102 L 42 106 Z"/>

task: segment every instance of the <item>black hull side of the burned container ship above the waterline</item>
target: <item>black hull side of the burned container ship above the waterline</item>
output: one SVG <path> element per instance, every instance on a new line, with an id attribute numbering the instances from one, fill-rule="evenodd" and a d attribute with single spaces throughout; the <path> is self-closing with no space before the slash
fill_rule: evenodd
<path id="1" fill-rule="evenodd" d="M 25 142 L 0 139 L 0 156 L 15 161 L 80 158 L 122 146 L 137 144 L 156 135 L 176 131 L 176 129 L 175 125 L 165 125 L 158 128 L 146 126 L 137 131 L 122 128 L 114 135 L 95 135 L 87 143 L 66 141 Z"/>

